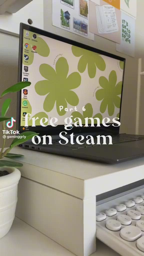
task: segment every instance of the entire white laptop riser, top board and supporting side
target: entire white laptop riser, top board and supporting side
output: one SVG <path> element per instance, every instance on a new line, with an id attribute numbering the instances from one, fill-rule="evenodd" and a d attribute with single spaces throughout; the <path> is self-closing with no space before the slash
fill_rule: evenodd
<path id="1" fill-rule="evenodd" d="M 78 256 L 96 251 L 96 195 L 144 178 L 144 158 L 99 164 L 14 148 L 22 178 L 16 216 Z"/>

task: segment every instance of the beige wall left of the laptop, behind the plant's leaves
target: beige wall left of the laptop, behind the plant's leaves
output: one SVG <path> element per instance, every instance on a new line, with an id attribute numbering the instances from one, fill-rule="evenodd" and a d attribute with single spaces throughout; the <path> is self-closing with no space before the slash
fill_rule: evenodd
<path id="1" fill-rule="evenodd" d="M 6 88 L 17 83 L 18 45 L 19 45 L 18 37 L 0 33 L 0 93 L 2 93 Z M 17 94 L 16 93 L 8 94 L 8 96 L 0 100 L 1 106 L 3 101 L 6 98 L 12 99 L 11 108 L 8 110 L 7 115 L 10 117 L 13 116 L 16 119 Z M 7 140 L 6 146 L 8 146 L 12 140 L 13 139 Z M 0 148 L 2 147 L 2 141 L 3 141 L 2 132 L 0 130 Z"/>

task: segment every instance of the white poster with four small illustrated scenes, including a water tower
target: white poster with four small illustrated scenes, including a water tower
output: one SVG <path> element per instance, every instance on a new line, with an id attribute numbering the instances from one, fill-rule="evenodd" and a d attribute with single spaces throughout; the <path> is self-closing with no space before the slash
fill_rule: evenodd
<path id="1" fill-rule="evenodd" d="M 89 0 L 53 0 L 53 26 L 94 41 L 89 32 Z"/>

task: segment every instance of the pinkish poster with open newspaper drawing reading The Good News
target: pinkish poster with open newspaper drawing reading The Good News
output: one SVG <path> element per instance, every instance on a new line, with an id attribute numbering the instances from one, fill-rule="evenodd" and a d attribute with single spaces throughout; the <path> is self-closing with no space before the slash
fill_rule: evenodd
<path id="1" fill-rule="evenodd" d="M 89 13 L 89 31 L 120 44 L 121 11 L 100 0 L 100 6 L 89 1 Z"/>

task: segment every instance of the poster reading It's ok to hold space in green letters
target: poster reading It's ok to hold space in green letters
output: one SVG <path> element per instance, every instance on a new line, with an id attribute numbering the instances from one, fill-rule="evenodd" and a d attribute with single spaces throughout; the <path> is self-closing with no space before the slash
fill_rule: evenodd
<path id="1" fill-rule="evenodd" d="M 135 19 L 121 14 L 121 44 L 116 44 L 116 50 L 135 57 Z"/>

